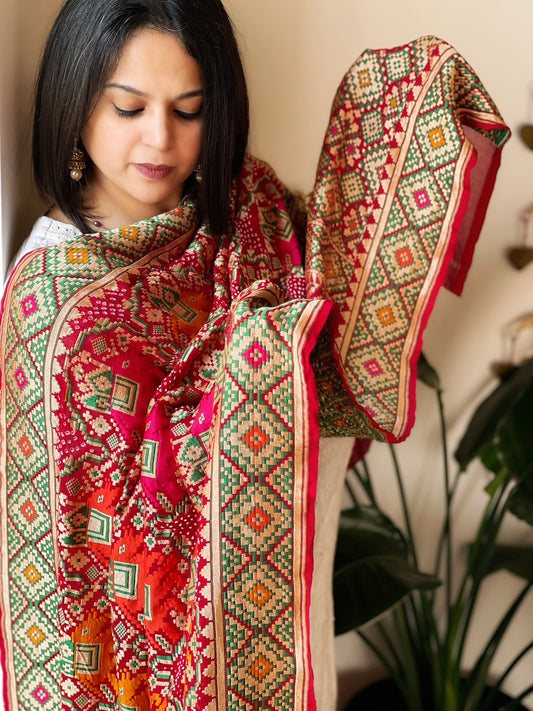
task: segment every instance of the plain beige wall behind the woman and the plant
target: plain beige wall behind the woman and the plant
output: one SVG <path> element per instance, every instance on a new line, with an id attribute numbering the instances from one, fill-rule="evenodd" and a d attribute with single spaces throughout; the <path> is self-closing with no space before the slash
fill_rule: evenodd
<path id="1" fill-rule="evenodd" d="M 24 155 L 28 145 L 33 65 L 42 28 L 57 0 L 1 0 L 0 141 L 2 174 L 2 254 L 5 259 L 26 236 L 41 207 L 29 186 Z M 367 47 L 391 47 L 422 34 L 453 44 L 473 65 L 515 131 L 504 150 L 502 168 L 474 265 L 461 299 L 439 296 L 424 350 L 445 386 L 452 445 L 473 403 L 490 386 L 489 364 L 501 358 L 503 330 L 511 320 L 533 312 L 533 265 L 516 272 L 504 249 L 518 238 L 518 215 L 533 203 L 533 152 L 517 138 L 518 126 L 533 122 L 533 4 L 531 0 L 227 0 L 239 33 L 252 102 L 252 150 L 270 162 L 292 188 L 309 190 L 330 102 L 348 65 Z M 32 30 L 32 28 L 34 28 Z M 29 196 L 29 197 L 28 197 Z M 532 236 L 533 239 L 533 236 Z M 415 523 L 431 542 L 440 493 L 436 426 L 427 394 L 420 392 L 418 423 L 402 450 L 416 491 Z M 454 440 L 455 437 L 455 440 Z M 379 454 L 374 455 L 379 459 Z M 465 480 L 461 497 L 462 535 L 483 501 L 482 475 Z M 384 496 L 391 491 L 384 487 Z M 394 507 L 394 493 L 390 495 Z M 428 551 L 422 557 L 428 558 Z M 484 614 L 508 600 L 515 582 L 501 577 Z M 509 645 L 533 638 L 533 601 L 528 600 Z M 473 645 L 477 641 L 473 640 Z M 339 669 L 348 687 L 375 670 L 374 661 L 353 641 L 338 641 Z M 502 662 L 499 662 L 500 667 Z M 531 666 L 529 666 L 531 669 Z M 529 676 L 529 678 L 528 678 Z M 517 675 L 510 688 L 531 681 Z M 344 687 L 343 687 L 344 688 Z"/>

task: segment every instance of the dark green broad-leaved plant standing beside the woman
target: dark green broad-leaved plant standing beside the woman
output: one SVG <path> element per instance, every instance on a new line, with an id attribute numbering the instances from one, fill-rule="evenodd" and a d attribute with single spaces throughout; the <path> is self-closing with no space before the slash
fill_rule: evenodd
<path id="1" fill-rule="evenodd" d="M 524 708 L 520 702 L 533 685 L 515 699 L 506 696 L 502 686 L 510 672 L 524 663 L 533 640 L 517 650 L 499 678 L 491 676 L 491 660 L 533 583 L 533 546 L 499 542 L 502 522 L 509 515 L 533 526 L 533 358 L 507 372 L 474 412 L 455 451 L 454 477 L 439 378 L 423 356 L 418 376 L 435 391 L 442 439 L 444 514 L 434 569 L 428 573 L 418 567 L 417 541 L 395 447 L 388 445 L 402 504 L 402 530 L 380 509 L 379 492 L 362 456 L 368 443 L 359 441 L 351 468 L 358 486 L 347 478 L 353 505 L 341 514 L 335 559 L 336 633 L 356 630 L 381 660 L 389 679 L 358 695 L 347 709 Z M 489 474 L 486 503 L 464 572 L 455 581 L 452 505 L 460 478 L 476 458 Z M 486 646 L 465 669 L 465 642 L 480 590 L 486 578 L 501 569 L 522 578 L 522 588 L 502 617 L 486 620 L 490 628 Z M 441 604 L 444 600 L 443 614 L 439 596 Z M 369 624 L 372 620 L 376 621 Z M 531 668 L 531 660 L 525 663 Z M 365 695 L 371 695 L 368 703 Z"/>

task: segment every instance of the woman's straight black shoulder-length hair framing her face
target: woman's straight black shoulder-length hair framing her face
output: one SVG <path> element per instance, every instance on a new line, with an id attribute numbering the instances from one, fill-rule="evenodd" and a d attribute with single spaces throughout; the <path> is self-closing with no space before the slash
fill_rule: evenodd
<path id="1" fill-rule="evenodd" d="M 80 131 L 125 40 L 153 27 L 175 34 L 198 62 L 203 80 L 202 181 L 190 176 L 201 219 L 216 234 L 230 217 L 231 181 L 248 140 L 246 81 L 230 19 L 220 0 L 67 0 L 49 34 L 37 79 L 33 172 L 41 195 L 84 232 L 92 231 L 82 205 L 83 183 L 68 162 Z"/>

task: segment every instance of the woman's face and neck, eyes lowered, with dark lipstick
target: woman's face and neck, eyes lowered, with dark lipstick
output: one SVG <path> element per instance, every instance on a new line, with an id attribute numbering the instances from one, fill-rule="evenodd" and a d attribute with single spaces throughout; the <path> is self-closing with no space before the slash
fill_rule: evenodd
<path id="1" fill-rule="evenodd" d="M 174 35 L 126 40 L 81 132 L 94 163 L 87 202 L 106 227 L 176 207 L 200 155 L 202 101 L 200 68 Z"/>

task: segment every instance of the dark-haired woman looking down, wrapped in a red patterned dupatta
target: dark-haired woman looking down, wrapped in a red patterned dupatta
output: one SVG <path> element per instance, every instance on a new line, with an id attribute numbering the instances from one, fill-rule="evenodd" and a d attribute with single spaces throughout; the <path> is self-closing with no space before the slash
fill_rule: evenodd
<path id="1" fill-rule="evenodd" d="M 67 0 L 35 114 L 51 208 L 1 326 L 10 710 L 333 708 L 318 427 L 407 434 L 422 328 L 460 290 L 508 132 L 446 43 L 362 55 L 304 270 L 247 125 L 217 0 Z"/>

